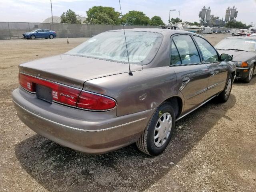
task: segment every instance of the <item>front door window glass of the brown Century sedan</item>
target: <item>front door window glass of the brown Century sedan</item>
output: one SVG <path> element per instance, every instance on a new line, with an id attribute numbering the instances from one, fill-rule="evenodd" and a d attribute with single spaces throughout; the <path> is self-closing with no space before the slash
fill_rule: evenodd
<path id="1" fill-rule="evenodd" d="M 211 46 L 210 43 L 198 36 L 194 36 L 194 39 L 196 40 L 196 43 L 198 44 L 202 52 L 203 59 L 206 63 L 216 62 L 219 60 L 216 50 Z"/>

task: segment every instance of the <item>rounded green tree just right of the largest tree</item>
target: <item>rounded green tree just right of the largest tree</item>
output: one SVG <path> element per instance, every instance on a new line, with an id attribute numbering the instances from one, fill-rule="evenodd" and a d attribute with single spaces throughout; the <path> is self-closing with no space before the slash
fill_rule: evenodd
<path id="1" fill-rule="evenodd" d="M 143 12 L 129 11 L 123 16 L 124 23 L 127 25 L 148 25 L 150 19 Z"/>

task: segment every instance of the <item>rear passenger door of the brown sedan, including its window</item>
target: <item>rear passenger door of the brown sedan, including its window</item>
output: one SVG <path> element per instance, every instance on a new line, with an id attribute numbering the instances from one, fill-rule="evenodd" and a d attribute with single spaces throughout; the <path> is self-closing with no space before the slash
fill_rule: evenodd
<path id="1" fill-rule="evenodd" d="M 183 113 L 206 100 L 209 70 L 202 62 L 190 34 L 178 34 L 170 39 L 170 66 L 173 67 L 180 92 L 184 96 Z"/>

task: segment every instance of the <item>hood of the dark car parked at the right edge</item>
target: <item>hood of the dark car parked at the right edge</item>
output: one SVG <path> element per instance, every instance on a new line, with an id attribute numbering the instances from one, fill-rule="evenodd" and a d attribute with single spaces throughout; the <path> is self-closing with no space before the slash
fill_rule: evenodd
<path id="1" fill-rule="evenodd" d="M 249 51 L 236 51 L 236 50 L 218 50 L 219 54 L 225 53 L 233 55 L 233 61 L 246 62 L 247 60 L 256 57 L 256 53 Z"/>

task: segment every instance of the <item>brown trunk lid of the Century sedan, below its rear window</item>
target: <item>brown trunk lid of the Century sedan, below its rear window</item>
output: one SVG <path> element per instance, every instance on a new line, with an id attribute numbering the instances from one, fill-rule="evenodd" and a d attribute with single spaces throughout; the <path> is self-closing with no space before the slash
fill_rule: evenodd
<path id="1" fill-rule="evenodd" d="M 131 71 L 142 70 L 141 65 L 130 64 Z M 20 72 L 47 80 L 82 88 L 84 82 L 95 78 L 129 72 L 129 65 L 106 60 L 58 55 L 20 64 Z"/>

